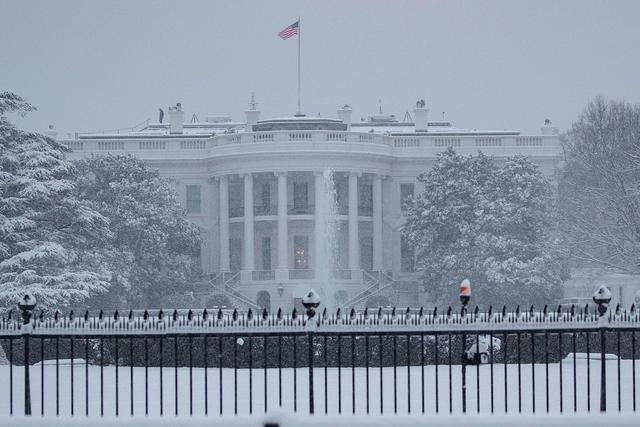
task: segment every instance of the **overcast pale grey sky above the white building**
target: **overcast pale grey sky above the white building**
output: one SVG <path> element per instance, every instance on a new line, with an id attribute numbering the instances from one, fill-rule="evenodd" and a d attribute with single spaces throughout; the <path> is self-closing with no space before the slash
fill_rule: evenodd
<path id="1" fill-rule="evenodd" d="M 0 90 L 38 111 L 42 131 L 98 131 L 156 120 L 244 120 L 296 109 L 301 17 L 303 110 L 400 118 L 425 98 L 460 127 L 567 129 L 597 94 L 640 102 L 640 1 L 0 0 Z"/>

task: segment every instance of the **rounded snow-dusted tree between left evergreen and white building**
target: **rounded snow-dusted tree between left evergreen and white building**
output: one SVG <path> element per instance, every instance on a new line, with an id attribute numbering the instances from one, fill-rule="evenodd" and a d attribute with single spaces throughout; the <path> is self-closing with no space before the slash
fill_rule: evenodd
<path id="1" fill-rule="evenodd" d="M 76 163 L 77 196 L 107 217 L 113 238 L 94 248 L 113 292 L 96 305 L 157 307 L 198 280 L 198 228 L 188 222 L 169 181 L 132 156 Z M 107 262 L 105 262 L 107 260 Z"/>

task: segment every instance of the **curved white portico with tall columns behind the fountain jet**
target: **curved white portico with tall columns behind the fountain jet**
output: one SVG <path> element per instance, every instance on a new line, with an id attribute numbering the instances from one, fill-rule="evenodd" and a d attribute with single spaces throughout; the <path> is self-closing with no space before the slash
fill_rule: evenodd
<path id="1" fill-rule="evenodd" d="M 320 277 L 322 239 L 327 238 L 317 219 L 319 207 L 326 203 L 319 189 L 325 185 L 327 169 L 213 176 L 219 195 L 220 270 L 216 274 L 233 278 L 238 291 L 248 296 L 267 291 L 272 299 L 274 292 L 278 297 L 293 297 L 293 288 L 300 283 L 313 286 Z M 330 277 L 343 285 L 344 293 L 324 297 L 350 298 L 361 291 L 363 274 L 384 270 L 382 183 L 386 177 L 333 169 L 332 175 L 338 256 Z"/>

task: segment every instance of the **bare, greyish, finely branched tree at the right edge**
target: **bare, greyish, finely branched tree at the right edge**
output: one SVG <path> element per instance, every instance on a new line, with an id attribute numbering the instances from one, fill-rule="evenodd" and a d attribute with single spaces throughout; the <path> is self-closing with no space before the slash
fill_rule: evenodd
<path id="1" fill-rule="evenodd" d="M 640 105 L 594 99 L 565 155 L 561 224 L 572 260 L 640 273 Z"/>

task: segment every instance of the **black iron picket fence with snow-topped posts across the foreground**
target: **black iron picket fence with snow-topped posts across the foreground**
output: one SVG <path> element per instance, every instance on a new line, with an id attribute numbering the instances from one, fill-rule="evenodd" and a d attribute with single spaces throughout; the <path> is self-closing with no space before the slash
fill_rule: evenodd
<path id="1" fill-rule="evenodd" d="M 0 322 L 0 414 L 635 411 L 639 332 L 635 307 L 25 312 Z"/>

